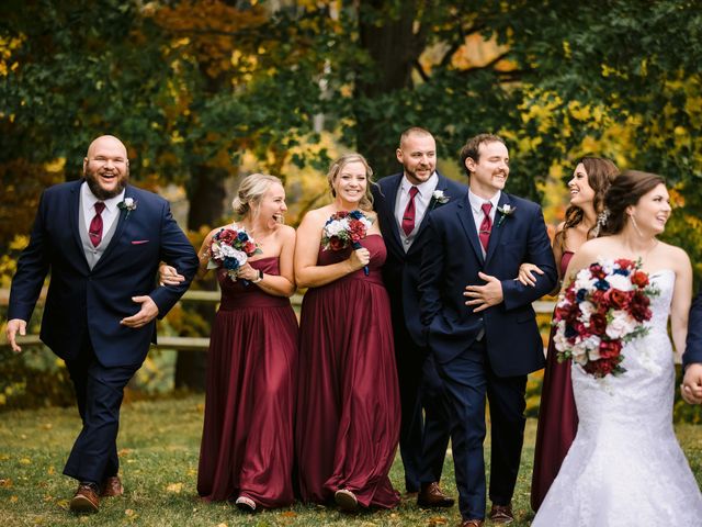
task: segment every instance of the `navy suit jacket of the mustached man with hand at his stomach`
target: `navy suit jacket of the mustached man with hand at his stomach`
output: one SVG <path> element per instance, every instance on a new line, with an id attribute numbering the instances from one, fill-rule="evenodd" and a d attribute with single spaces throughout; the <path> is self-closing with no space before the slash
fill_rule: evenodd
<path id="1" fill-rule="evenodd" d="M 499 377 L 522 375 L 545 365 L 543 344 L 532 302 L 556 284 L 557 271 L 541 208 L 501 193 L 484 258 L 468 195 L 434 211 L 427 227 L 419 290 L 421 322 L 429 346 L 440 363 L 471 347 L 485 328 L 487 354 Z M 522 262 L 539 266 L 536 287 L 514 280 Z M 465 305 L 466 285 L 484 282 L 478 272 L 501 281 L 503 302 L 478 313 Z"/>

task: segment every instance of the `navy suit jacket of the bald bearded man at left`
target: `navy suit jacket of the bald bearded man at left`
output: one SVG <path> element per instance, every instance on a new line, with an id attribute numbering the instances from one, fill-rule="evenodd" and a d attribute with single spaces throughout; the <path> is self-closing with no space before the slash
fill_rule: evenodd
<path id="1" fill-rule="evenodd" d="M 114 235 L 91 270 L 78 229 L 82 182 L 57 184 L 42 194 L 30 244 L 12 280 L 8 318 L 30 321 L 50 270 L 42 340 L 70 360 L 88 332 L 103 366 L 140 365 L 149 343 L 156 341 L 156 321 L 140 328 L 121 325 L 122 318 L 140 309 L 132 296 L 151 296 L 163 317 L 190 285 L 197 256 L 172 218 L 168 201 L 127 184 L 125 198 L 137 206 L 128 214 L 120 211 Z M 160 261 L 176 267 L 186 280 L 156 288 Z"/>

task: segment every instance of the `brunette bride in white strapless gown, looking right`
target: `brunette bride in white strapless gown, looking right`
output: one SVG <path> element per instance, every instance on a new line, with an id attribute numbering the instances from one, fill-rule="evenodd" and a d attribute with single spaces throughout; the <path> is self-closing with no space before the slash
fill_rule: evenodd
<path id="1" fill-rule="evenodd" d="M 672 428 L 673 352 L 684 349 L 692 269 L 680 248 L 656 239 L 670 215 L 664 180 L 629 171 L 610 188 L 610 236 L 574 256 L 566 284 L 596 260 L 642 259 L 660 290 L 649 333 L 624 346 L 626 372 L 595 379 L 573 366 L 578 433 L 532 527 L 702 526 L 702 494 Z M 569 278 L 568 278 L 569 277 Z"/>

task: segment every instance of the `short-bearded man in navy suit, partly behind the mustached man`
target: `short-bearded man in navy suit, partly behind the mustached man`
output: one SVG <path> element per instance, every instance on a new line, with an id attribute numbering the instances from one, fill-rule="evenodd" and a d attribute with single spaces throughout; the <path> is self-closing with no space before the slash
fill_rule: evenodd
<path id="1" fill-rule="evenodd" d="M 449 507 L 453 498 L 439 486 L 450 433 L 443 384 L 429 357 L 419 322 L 419 268 L 428 242 L 429 213 L 467 188 L 437 168 L 437 144 L 420 127 L 403 132 L 396 150 L 404 170 L 373 187 L 375 210 L 387 247 L 383 279 L 390 298 L 395 358 L 400 388 L 399 448 L 408 493 L 418 492 L 423 507 Z M 423 410 L 423 413 L 422 413 Z"/>

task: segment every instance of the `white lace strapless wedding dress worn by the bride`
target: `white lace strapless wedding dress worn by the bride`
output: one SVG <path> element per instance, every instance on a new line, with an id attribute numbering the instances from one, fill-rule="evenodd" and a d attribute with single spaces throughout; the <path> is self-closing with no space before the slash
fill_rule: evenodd
<path id="1" fill-rule="evenodd" d="M 573 367 L 578 433 L 532 527 L 702 526 L 702 495 L 672 429 L 675 278 L 652 274 L 652 328 L 622 350 L 625 373 L 598 380 Z"/>

